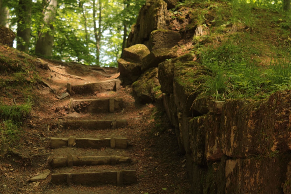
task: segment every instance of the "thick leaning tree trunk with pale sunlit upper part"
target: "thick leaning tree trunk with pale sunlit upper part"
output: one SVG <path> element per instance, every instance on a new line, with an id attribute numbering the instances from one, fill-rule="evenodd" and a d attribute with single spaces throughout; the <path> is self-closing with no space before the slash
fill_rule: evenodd
<path id="1" fill-rule="evenodd" d="M 44 26 L 49 30 L 40 31 L 38 33 L 38 40 L 36 42 L 36 55 L 38 56 L 52 56 L 52 48 L 54 44 L 54 26 L 53 22 L 56 17 L 57 0 L 48 0 L 48 6 L 45 10 Z M 42 29 L 43 30 L 43 29 Z"/>

